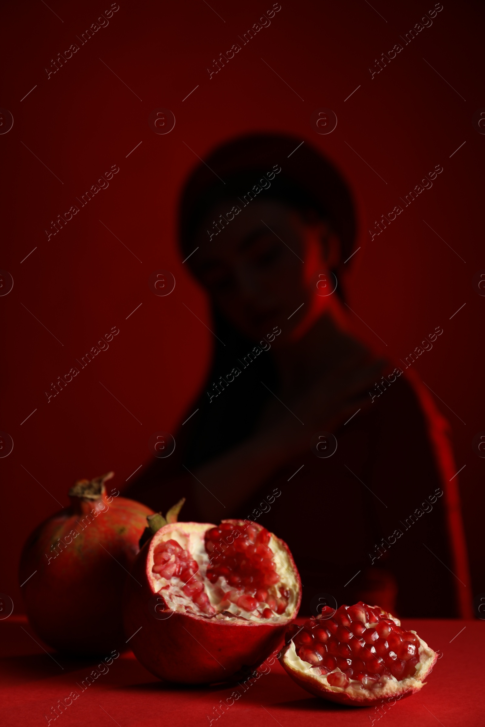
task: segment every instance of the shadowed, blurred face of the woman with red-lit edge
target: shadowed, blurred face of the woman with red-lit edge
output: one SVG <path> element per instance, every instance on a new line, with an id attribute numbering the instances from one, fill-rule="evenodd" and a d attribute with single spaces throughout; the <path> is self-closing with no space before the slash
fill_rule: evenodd
<path id="1" fill-rule="evenodd" d="M 253 200 L 229 222 L 214 220 L 228 214 L 221 202 L 201 222 L 191 266 L 215 305 L 233 326 L 253 340 L 273 327 L 281 328 L 279 342 L 295 337 L 305 321 L 321 315 L 328 297 L 329 254 L 337 240 L 326 223 L 306 222 L 280 201 Z M 209 232 L 207 232 L 209 230 Z M 333 251 L 333 252 L 332 252 Z M 318 283 L 318 287 L 317 287 Z"/>

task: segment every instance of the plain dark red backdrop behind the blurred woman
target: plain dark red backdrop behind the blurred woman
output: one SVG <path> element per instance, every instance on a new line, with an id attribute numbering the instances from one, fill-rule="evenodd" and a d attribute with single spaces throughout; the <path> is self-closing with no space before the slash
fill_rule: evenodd
<path id="1" fill-rule="evenodd" d="M 485 460 L 471 447 L 473 436 L 485 430 L 485 298 L 472 286 L 474 274 L 485 268 L 480 224 L 485 136 L 471 122 L 485 106 L 481 4 L 445 1 L 433 25 L 372 80 L 369 65 L 401 42 L 399 36 L 434 7 L 432 1 L 389 8 L 376 0 L 375 9 L 364 1 L 281 4 L 270 27 L 210 80 L 213 58 L 239 42 L 272 7 L 270 1 L 212 0 L 211 9 L 196 0 L 120 0 L 108 27 L 49 79 L 44 68 L 51 59 L 78 42 L 76 36 L 110 3 L 52 0 L 52 10 L 37 1 L 3 5 L 0 106 L 15 123 L 0 136 L 0 268 L 15 284 L 0 297 L 0 429 L 15 444 L 0 459 L 0 591 L 13 598 L 17 612 L 20 547 L 33 526 L 58 507 L 55 499 L 67 504 L 75 478 L 110 469 L 116 471 L 114 483 L 123 486 L 148 462 L 151 434 L 173 432 L 198 391 L 213 341 L 188 310 L 209 324 L 204 294 L 177 252 L 177 198 L 196 155 L 259 130 L 291 132 L 312 142 L 348 177 L 362 215 L 362 248 L 353 257 L 348 301 L 385 341 L 386 353 L 405 358 L 436 326 L 444 329 L 414 370 L 453 410 L 438 400 L 452 425 L 457 470 L 466 465 L 459 478 L 473 593 L 485 592 Z M 148 126 L 148 115 L 159 107 L 175 113 L 170 134 L 155 134 Z M 321 107 L 332 108 L 338 118 L 326 136 L 310 126 L 310 115 Z M 284 159 L 276 161 L 284 168 Z M 120 171 L 109 188 L 47 241 L 50 221 L 77 204 L 76 196 L 113 164 Z M 370 242 L 366 220 L 401 204 L 399 197 L 437 164 L 444 171 L 433 188 Z M 171 270 L 177 281 L 168 297 L 156 297 L 148 287 L 159 268 Z M 353 318 L 369 341 L 381 345 Z M 112 326 L 120 332 L 109 350 L 47 403 L 44 392 L 51 382 Z"/>

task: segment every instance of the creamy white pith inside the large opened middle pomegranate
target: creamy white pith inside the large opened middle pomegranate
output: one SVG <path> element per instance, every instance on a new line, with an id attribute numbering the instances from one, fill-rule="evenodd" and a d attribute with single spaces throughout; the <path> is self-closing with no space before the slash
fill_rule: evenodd
<path id="1" fill-rule="evenodd" d="M 261 624 L 281 624 L 294 617 L 294 611 L 297 606 L 297 601 L 300 593 L 299 582 L 295 575 L 294 565 L 290 561 L 289 554 L 286 548 L 282 544 L 281 540 L 276 538 L 272 533 L 270 534 L 270 541 L 268 548 L 273 553 L 273 562 L 275 564 L 275 570 L 278 574 L 279 581 L 275 585 L 265 587 L 268 590 L 268 594 L 273 595 L 274 598 L 280 597 L 280 589 L 284 588 L 288 593 L 288 605 L 282 614 L 274 613 L 269 618 L 262 617 L 262 609 L 259 604 L 254 611 L 244 611 L 236 603 L 228 603 L 223 601 L 224 606 L 221 606 L 221 598 L 223 593 L 227 593 L 234 589 L 234 586 L 229 585 L 225 577 L 219 577 L 215 584 L 212 584 L 207 578 L 207 566 L 209 565 L 209 554 L 205 549 L 204 534 L 207 530 L 215 528 L 215 525 L 210 523 L 172 523 L 161 528 L 152 538 L 150 550 L 148 553 L 147 573 L 150 579 L 151 585 L 155 593 L 159 593 L 164 601 L 167 603 L 167 607 L 171 611 L 177 611 L 179 613 L 194 614 L 196 616 L 202 616 L 205 619 L 211 619 L 216 621 L 233 622 L 238 619 L 245 619 L 246 621 L 258 622 Z M 259 527 L 259 526 L 258 526 Z M 175 540 L 180 547 L 184 550 L 188 550 L 194 561 L 199 565 L 199 573 L 204 582 L 205 592 L 209 597 L 209 602 L 215 608 L 216 614 L 214 616 L 208 616 L 204 611 L 194 603 L 190 596 L 183 593 L 183 586 L 185 582 L 180 577 L 172 577 L 166 579 L 161 577 L 158 573 L 153 573 L 153 551 L 156 546 L 161 542 L 167 542 L 167 540 Z M 303 662 L 302 662 L 303 663 Z"/>

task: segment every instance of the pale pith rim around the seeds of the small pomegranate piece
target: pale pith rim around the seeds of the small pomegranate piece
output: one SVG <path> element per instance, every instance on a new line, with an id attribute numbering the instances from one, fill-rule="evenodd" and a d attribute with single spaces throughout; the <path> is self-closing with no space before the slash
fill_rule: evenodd
<path id="1" fill-rule="evenodd" d="M 374 608 L 377 607 L 374 606 Z M 393 622 L 395 622 L 398 626 L 401 626 L 401 622 L 399 621 L 399 619 L 396 619 L 395 616 L 391 616 L 390 614 L 388 614 L 388 618 L 392 619 Z M 323 627 L 324 623 L 325 622 L 323 621 Z M 376 624 L 372 622 L 366 623 L 364 625 L 366 628 L 373 628 Z M 284 662 L 291 668 L 292 671 L 297 672 L 297 674 L 310 677 L 316 683 L 321 684 L 321 686 L 323 686 L 326 691 L 332 691 L 336 694 L 348 694 L 348 696 L 350 696 L 352 699 L 356 699 L 356 701 L 358 701 L 358 699 L 380 700 L 386 697 L 398 696 L 398 694 L 404 694 L 407 691 L 416 691 L 417 689 L 422 688 L 424 684 L 423 680 L 428 674 L 430 666 L 431 664 L 433 664 L 436 656 L 433 649 L 431 649 L 428 644 L 423 641 L 420 636 L 417 635 L 415 631 L 410 631 L 414 633 L 420 640 L 420 646 L 418 647 L 420 661 L 416 664 L 416 673 L 414 674 L 414 676 L 409 676 L 404 679 L 398 680 L 392 675 L 386 675 L 385 680 L 379 680 L 375 682 L 372 687 L 368 689 L 364 688 L 361 682 L 357 679 L 350 679 L 348 686 L 346 686 L 345 688 L 332 686 L 331 684 L 329 684 L 327 677 L 330 674 L 334 674 L 335 672 L 340 672 L 341 670 L 339 669 L 339 667 L 335 667 L 334 670 L 326 675 L 318 674 L 317 670 L 312 668 L 312 664 L 304 662 L 302 659 L 300 659 L 300 656 L 297 655 L 293 640 L 289 643 L 284 653 Z"/>

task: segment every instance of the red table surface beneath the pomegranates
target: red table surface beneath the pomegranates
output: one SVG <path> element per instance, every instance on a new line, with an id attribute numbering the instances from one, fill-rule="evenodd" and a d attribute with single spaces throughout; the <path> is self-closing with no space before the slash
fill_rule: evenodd
<path id="1" fill-rule="evenodd" d="M 300 620 L 300 619 L 299 619 Z M 404 619 L 438 651 L 428 683 L 416 694 L 385 712 L 374 707 L 341 707 L 311 696 L 275 662 L 217 718 L 217 705 L 234 686 L 196 687 L 161 683 L 137 662 L 132 652 L 121 654 L 104 675 L 81 692 L 81 684 L 97 666 L 93 659 L 68 659 L 47 654 L 22 616 L 0 621 L 0 725 L 17 727 L 419 727 L 485 726 L 485 623 L 454 619 Z M 34 640 L 35 639 L 35 640 Z M 99 661 L 99 660 L 98 660 Z M 237 685 L 236 685 L 237 688 Z M 51 708 L 71 691 L 79 697 L 54 719 Z M 230 700 L 231 701 L 231 700 Z M 46 719 L 46 715 L 48 718 Z M 384 721 L 382 721 L 384 720 Z"/>

